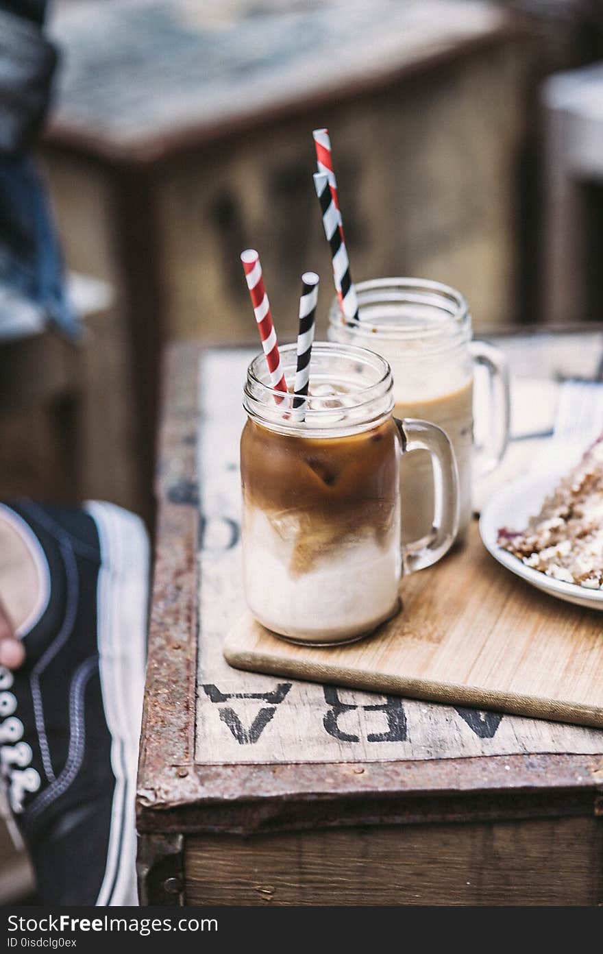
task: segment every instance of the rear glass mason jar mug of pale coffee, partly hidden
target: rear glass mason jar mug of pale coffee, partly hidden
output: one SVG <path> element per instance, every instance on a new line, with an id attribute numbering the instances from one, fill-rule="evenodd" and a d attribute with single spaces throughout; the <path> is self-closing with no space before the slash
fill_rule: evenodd
<path id="1" fill-rule="evenodd" d="M 502 354 L 472 342 L 471 316 L 463 296 L 447 285 L 423 279 L 376 279 L 356 285 L 360 324 L 345 323 L 337 299 L 329 312 L 331 342 L 361 345 L 391 366 L 394 414 L 422 418 L 447 432 L 459 472 L 462 537 L 471 517 L 473 471 L 486 474 L 500 462 L 509 441 L 509 381 Z M 489 374 L 487 445 L 476 458 L 473 444 L 473 371 Z M 480 408 L 480 413 L 482 409 Z M 481 423 L 481 422 L 480 422 Z M 402 462 L 402 539 L 432 533 L 434 499 L 426 453 Z"/>

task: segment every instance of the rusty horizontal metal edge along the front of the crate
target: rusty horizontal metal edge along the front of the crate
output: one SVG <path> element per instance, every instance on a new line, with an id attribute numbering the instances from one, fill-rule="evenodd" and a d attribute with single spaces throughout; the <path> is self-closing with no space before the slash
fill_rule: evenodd
<path id="1" fill-rule="evenodd" d="M 601 814 L 603 756 L 166 766 L 140 831 L 294 830 L 346 824 Z"/>

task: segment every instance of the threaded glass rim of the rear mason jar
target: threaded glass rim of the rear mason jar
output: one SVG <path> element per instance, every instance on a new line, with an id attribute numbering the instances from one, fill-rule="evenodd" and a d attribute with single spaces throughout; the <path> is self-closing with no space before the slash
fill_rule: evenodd
<path id="1" fill-rule="evenodd" d="M 360 321 L 345 321 L 340 302 L 335 296 L 329 309 L 331 326 L 344 324 L 353 334 L 366 338 L 378 335 L 382 340 L 392 342 L 409 342 L 421 337 L 424 344 L 434 349 L 447 347 L 458 340 L 470 341 L 472 330 L 468 301 L 451 285 L 430 279 L 384 278 L 359 281 L 355 288 Z M 398 301 L 431 308 L 434 314 L 439 313 L 439 318 L 429 320 L 424 316 L 420 327 L 417 320 L 405 321 L 402 317 L 395 322 L 363 320 L 363 306 L 373 302 L 385 304 L 387 301 L 391 304 Z M 442 321 L 443 316 L 446 316 L 447 322 Z"/>

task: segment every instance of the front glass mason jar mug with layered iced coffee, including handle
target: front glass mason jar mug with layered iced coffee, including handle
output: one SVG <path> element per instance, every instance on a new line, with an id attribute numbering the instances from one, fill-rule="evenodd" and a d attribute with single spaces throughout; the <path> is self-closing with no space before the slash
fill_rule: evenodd
<path id="1" fill-rule="evenodd" d="M 296 347 L 281 348 L 288 381 Z M 346 344 L 316 342 L 310 396 L 295 407 L 270 386 L 259 355 L 248 368 L 240 444 L 243 581 L 260 623 L 327 645 L 369 633 L 397 612 L 410 571 L 450 547 L 458 518 L 453 454 L 425 422 L 395 422 L 389 365 Z M 400 547 L 400 460 L 421 447 L 437 461 L 438 529 Z"/>

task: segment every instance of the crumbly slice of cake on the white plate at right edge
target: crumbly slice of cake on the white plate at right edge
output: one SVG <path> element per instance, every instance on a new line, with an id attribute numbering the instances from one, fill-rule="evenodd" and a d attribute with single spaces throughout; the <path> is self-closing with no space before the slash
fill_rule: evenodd
<path id="1" fill-rule="evenodd" d="M 555 580 L 603 590 L 603 435 L 525 530 L 499 530 L 498 545 Z"/>

